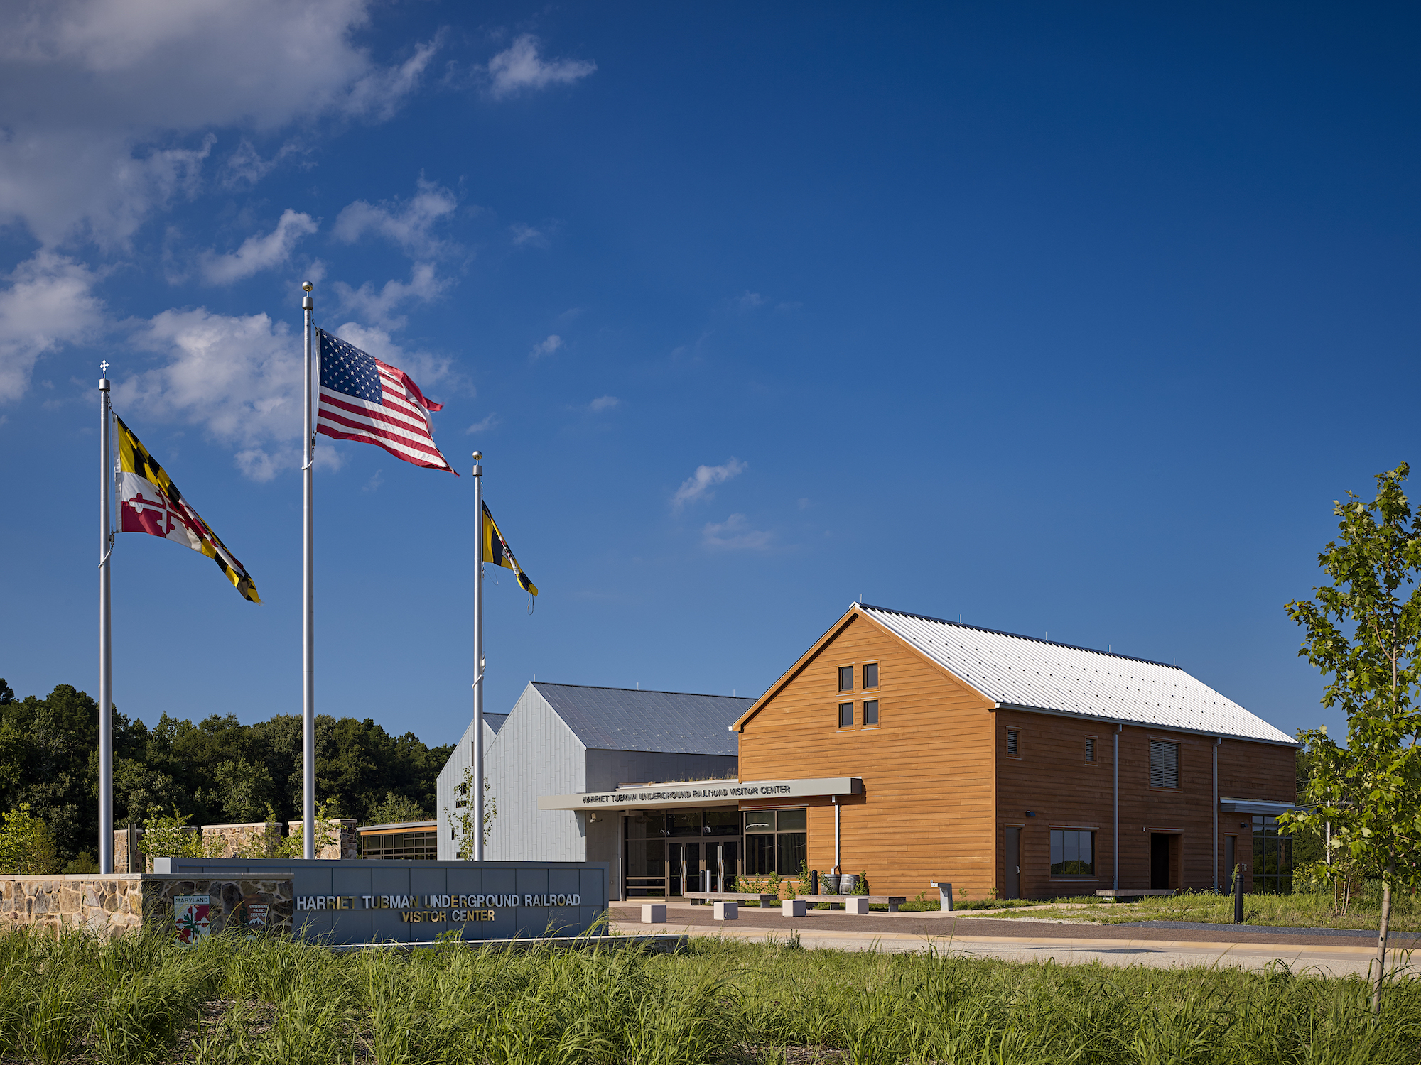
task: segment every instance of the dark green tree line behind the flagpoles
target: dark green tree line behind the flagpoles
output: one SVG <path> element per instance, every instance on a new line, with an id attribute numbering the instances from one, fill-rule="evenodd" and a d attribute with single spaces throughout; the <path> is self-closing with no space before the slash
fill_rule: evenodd
<path id="1" fill-rule="evenodd" d="M 391 736 L 374 720 L 315 717 L 317 801 L 360 824 L 433 816 L 435 780 L 452 744 Z M 17 699 L 0 677 L 0 809 L 41 821 L 61 868 L 85 870 L 98 848 L 98 703 L 72 684 Z M 149 728 L 114 710 L 114 826 L 155 812 L 195 825 L 301 815 L 301 717 L 242 724 L 166 713 Z"/>

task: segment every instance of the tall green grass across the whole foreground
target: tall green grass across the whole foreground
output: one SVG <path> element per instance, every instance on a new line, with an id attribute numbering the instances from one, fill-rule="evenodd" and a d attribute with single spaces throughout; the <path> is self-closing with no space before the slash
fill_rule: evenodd
<path id="1" fill-rule="evenodd" d="M 61 1062 L 696 1065 L 1421 1059 L 1421 983 L 1279 966 L 1061 967 L 696 940 L 337 954 L 270 939 L 0 936 L 0 1058 Z M 786 1049 L 790 1049 L 787 1054 Z"/>

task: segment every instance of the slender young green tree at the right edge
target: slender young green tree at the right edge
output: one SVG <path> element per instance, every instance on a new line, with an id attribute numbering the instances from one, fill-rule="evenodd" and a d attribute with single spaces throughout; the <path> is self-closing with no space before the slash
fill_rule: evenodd
<path id="1" fill-rule="evenodd" d="M 1306 731 L 1310 778 L 1306 809 L 1283 815 L 1289 828 L 1331 826 L 1334 866 L 1381 880 L 1381 922 L 1371 1008 L 1381 1011 L 1387 932 L 1395 886 L 1421 879 L 1421 521 L 1401 490 L 1405 463 L 1377 474 L 1377 497 L 1353 493 L 1334 504 L 1340 535 L 1319 565 L 1331 584 L 1287 604 L 1306 630 L 1299 655 L 1327 677 L 1323 704 L 1347 714 L 1347 746 L 1324 728 Z M 1319 870 L 1314 863 L 1314 875 Z"/>

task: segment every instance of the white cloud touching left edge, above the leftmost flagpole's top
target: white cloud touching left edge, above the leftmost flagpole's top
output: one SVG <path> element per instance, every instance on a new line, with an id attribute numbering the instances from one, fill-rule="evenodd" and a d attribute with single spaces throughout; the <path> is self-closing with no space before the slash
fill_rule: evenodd
<path id="1" fill-rule="evenodd" d="M 0 403 L 26 393 L 41 355 L 104 325 L 104 305 L 94 295 L 98 278 L 71 258 L 38 251 L 6 280 L 9 287 L 0 290 Z"/>

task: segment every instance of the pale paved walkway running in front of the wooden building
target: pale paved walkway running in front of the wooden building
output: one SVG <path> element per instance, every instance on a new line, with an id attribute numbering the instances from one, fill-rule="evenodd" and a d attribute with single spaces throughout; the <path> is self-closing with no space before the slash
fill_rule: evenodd
<path id="1" fill-rule="evenodd" d="M 639 906 L 612 906 L 612 930 L 644 934 L 651 930 L 725 939 L 783 940 L 799 933 L 806 947 L 838 950 L 918 951 L 929 946 L 952 954 L 996 957 L 1013 961 L 1100 961 L 1107 966 L 1239 966 L 1259 971 L 1286 961 L 1295 973 L 1323 976 L 1367 974 L 1377 954 L 1376 940 L 1350 939 L 1327 929 L 1269 929 L 1212 924 L 1198 927 L 1144 927 L 1074 924 L 1033 920 L 968 919 L 952 913 L 871 913 L 810 910 L 804 917 L 783 917 L 777 910 L 742 909 L 739 920 L 718 922 L 709 906 L 669 903 L 665 924 L 642 924 Z M 1415 934 L 1388 940 L 1387 963 L 1393 971 L 1411 967 Z"/>

